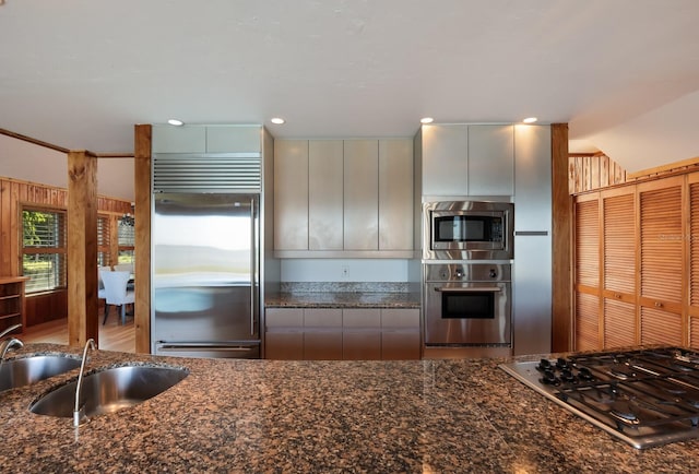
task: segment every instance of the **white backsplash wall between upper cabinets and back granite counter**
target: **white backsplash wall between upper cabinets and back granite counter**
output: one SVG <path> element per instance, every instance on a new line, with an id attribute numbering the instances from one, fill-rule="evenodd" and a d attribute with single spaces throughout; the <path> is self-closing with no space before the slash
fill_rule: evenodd
<path id="1" fill-rule="evenodd" d="M 282 281 L 408 282 L 408 262 L 392 259 L 284 259 Z"/>

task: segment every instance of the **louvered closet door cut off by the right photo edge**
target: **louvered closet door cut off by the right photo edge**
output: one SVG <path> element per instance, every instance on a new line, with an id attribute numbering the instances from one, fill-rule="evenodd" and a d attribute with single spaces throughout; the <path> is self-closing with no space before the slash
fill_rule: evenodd
<path id="1" fill-rule="evenodd" d="M 699 173 L 687 177 L 689 193 L 689 337 L 699 348 Z"/>

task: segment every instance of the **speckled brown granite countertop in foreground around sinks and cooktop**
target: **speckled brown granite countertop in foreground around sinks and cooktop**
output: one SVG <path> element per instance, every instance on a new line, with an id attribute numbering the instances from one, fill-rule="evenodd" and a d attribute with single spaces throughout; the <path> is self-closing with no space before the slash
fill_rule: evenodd
<path id="1" fill-rule="evenodd" d="M 12 357 L 79 348 L 27 344 Z M 69 418 L 29 403 L 76 370 L 0 393 L 15 472 L 697 472 L 699 441 L 636 450 L 497 367 L 498 359 L 281 362 L 97 351 L 190 375 L 135 407 Z"/>

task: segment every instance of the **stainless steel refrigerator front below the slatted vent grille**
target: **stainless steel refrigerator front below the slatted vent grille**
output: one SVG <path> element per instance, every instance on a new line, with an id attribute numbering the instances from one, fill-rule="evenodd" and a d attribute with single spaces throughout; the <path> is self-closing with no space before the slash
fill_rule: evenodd
<path id="1" fill-rule="evenodd" d="M 258 198 L 154 194 L 153 354 L 260 357 Z"/>

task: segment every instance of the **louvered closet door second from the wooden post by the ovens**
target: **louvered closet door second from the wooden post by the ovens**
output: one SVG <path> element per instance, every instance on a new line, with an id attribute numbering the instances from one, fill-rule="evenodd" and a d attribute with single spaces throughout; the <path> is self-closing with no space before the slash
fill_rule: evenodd
<path id="1" fill-rule="evenodd" d="M 636 190 L 602 193 L 604 348 L 636 344 Z"/>

